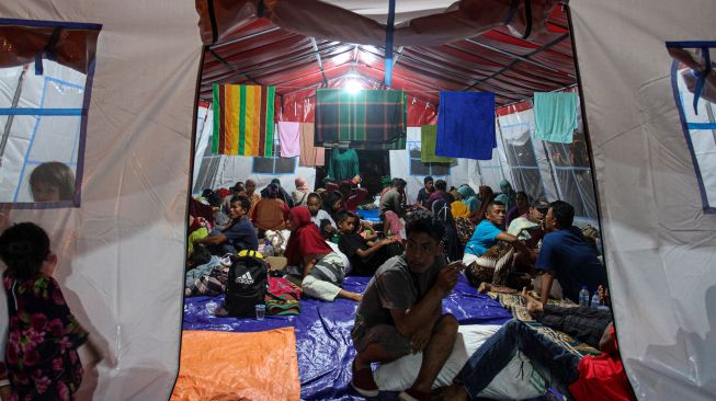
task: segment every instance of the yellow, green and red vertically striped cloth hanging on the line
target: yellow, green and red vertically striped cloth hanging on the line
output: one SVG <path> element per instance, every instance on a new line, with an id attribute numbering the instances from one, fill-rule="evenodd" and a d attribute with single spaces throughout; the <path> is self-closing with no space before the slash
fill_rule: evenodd
<path id="1" fill-rule="evenodd" d="M 214 154 L 272 157 L 274 87 L 214 84 Z"/>

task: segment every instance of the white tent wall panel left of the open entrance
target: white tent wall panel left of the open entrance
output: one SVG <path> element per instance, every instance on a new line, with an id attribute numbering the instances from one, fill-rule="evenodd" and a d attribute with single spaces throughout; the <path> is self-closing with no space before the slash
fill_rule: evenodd
<path id="1" fill-rule="evenodd" d="M 60 257 L 55 277 L 103 354 L 98 366 L 86 364 L 80 399 L 167 399 L 179 363 L 201 55 L 194 4 L 3 1 L 0 15 L 103 25 L 81 207 L 15 209 L 12 220 L 49 232 Z"/>

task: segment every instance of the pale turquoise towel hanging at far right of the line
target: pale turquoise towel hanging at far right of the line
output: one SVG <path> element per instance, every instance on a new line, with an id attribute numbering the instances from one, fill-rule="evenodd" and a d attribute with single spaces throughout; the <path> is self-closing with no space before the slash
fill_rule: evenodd
<path id="1" fill-rule="evenodd" d="M 534 138 L 571 144 L 577 129 L 577 96 L 570 92 L 535 92 Z"/>

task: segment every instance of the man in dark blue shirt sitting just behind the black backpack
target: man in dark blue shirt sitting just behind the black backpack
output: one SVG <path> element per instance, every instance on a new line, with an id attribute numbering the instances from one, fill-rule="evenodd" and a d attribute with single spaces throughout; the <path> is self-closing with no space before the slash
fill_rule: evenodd
<path id="1" fill-rule="evenodd" d="M 215 255 L 236 253 L 240 250 L 257 250 L 259 239 L 247 214 L 251 208 L 251 202 L 246 196 L 234 196 L 229 207 L 231 221 L 223 230 L 214 230 L 208 237 L 197 239 L 194 244 L 207 245 Z"/>

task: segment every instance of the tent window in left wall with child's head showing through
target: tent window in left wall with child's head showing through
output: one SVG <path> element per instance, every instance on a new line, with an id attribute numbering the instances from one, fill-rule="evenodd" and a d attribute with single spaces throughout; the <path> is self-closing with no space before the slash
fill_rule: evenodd
<path id="1" fill-rule="evenodd" d="M 7 45 L 0 50 L 0 203 L 79 206 L 100 30 L 0 20 L 0 42 Z"/>

